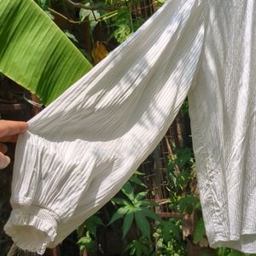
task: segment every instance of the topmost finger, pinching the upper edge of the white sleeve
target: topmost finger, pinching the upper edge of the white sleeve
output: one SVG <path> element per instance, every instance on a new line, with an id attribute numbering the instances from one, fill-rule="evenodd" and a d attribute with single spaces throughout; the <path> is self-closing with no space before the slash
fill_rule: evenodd
<path id="1" fill-rule="evenodd" d="M 26 122 L 0 120 L 0 141 L 15 142 L 17 135 L 27 130 Z"/>

